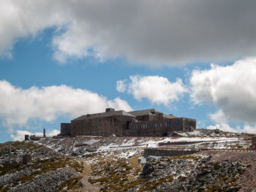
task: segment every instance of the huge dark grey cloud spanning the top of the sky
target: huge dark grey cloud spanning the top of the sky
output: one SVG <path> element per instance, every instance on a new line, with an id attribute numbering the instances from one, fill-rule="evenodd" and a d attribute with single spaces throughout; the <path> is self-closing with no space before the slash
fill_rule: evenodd
<path id="1" fill-rule="evenodd" d="M 234 60 L 256 53 L 256 1 L 2 0 L 0 53 L 56 27 L 54 58 L 125 56 L 151 65 Z"/>

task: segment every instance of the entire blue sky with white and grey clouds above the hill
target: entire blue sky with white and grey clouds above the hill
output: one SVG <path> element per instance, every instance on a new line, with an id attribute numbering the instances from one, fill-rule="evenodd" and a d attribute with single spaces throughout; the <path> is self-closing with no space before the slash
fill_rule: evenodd
<path id="1" fill-rule="evenodd" d="M 0 7 L 0 142 L 79 115 L 156 108 L 256 133 L 256 1 L 30 1 Z"/>

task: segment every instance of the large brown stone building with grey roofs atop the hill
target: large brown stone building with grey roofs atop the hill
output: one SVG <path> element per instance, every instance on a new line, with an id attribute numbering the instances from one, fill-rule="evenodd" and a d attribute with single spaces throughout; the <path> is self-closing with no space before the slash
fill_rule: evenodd
<path id="1" fill-rule="evenodd" d="M 195 128 L 195 119 L 176 118 L 154 109 L 125 112 L 108 108 L 105 112 L 82 115 L 71 123 L 61 123 L 61 135 L 161 137 Z"/>

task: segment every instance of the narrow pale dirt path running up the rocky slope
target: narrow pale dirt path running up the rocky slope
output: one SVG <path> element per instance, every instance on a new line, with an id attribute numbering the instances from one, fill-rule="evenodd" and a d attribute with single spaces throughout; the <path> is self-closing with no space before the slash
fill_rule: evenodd
<path id="1" fill-rule="evenodd" d="M 86 163 L 86 161 L 83 161 L 83 167 L 84 171 L 81 174 L 83 176 L 81 182 L 83 183 L 83 188 L 80 189 L 80 191 L 86 191 L 86 192 L 98 192 L 101 188 L 100 185 L 92 185 L 89 183 L 88 178 L 91 173 L 90 165 Z"/>

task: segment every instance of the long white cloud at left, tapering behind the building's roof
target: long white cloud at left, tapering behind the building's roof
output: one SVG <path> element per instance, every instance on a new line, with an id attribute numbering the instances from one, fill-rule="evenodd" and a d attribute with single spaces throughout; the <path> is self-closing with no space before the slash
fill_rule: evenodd
<path id="1" fill-rule="evenodd" d="M 104 112 L 106 107 L 132 110 L 120 98 L 108 100 L 88 90 L 67 85 L 17 88 L 5 80 L 0 81 L 0 118 L 4 126 L 26 126 L 29 120 L 50 122 L 61 115 L 76 117 L 87 113 Z"/>

